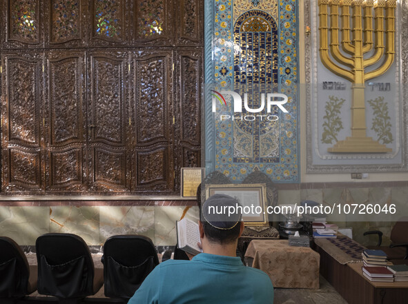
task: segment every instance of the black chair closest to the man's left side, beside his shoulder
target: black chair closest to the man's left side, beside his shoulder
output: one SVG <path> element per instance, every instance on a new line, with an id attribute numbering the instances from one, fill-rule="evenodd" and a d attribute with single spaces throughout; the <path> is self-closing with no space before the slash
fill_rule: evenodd
<path id="1" fill-rule="evenodd" d="M 105 296 L 128 301 L 159 265 L 155 245 L 147 236 L 110 236 L 104 245 Z"/>

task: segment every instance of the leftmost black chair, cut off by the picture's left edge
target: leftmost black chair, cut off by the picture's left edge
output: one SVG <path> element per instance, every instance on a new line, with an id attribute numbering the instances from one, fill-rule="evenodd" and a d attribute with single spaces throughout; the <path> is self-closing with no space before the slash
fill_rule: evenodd
<path id="1" fill-rule="evenodd" d="M 0 236 L 0 303 L 17 303 L 37 290 L 37 266 L 29 266 L 20 246 Z"/>

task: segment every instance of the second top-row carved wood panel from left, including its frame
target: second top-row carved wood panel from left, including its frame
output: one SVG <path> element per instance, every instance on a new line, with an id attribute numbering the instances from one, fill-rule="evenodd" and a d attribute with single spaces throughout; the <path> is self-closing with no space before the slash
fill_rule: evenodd
<path id="1" fill-rule="evenodd" d="M 48 0 L 44 17 L 46 45 L 51 48 L 86 44 L 86 0 Z"/>

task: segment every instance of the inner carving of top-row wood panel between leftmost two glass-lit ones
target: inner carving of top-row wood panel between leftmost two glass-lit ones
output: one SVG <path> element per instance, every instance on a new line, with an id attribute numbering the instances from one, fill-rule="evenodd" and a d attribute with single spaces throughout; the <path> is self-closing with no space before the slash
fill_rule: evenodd
<path id="1" fill-rule="evenodd" d="M 52 1 L 52 33 L 53 42 L 75 39 L 79 32 L 79 1 Z"/>

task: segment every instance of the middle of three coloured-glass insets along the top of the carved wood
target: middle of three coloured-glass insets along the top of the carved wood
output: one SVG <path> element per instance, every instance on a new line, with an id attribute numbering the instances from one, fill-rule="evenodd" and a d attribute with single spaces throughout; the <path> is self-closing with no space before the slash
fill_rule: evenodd
<path id="1" fill-rule="evenodd" d="M 114 38 L 120 36 L 120 3 L 115 0 L 95 1 L 95 28 L 99 35 Z"/>

